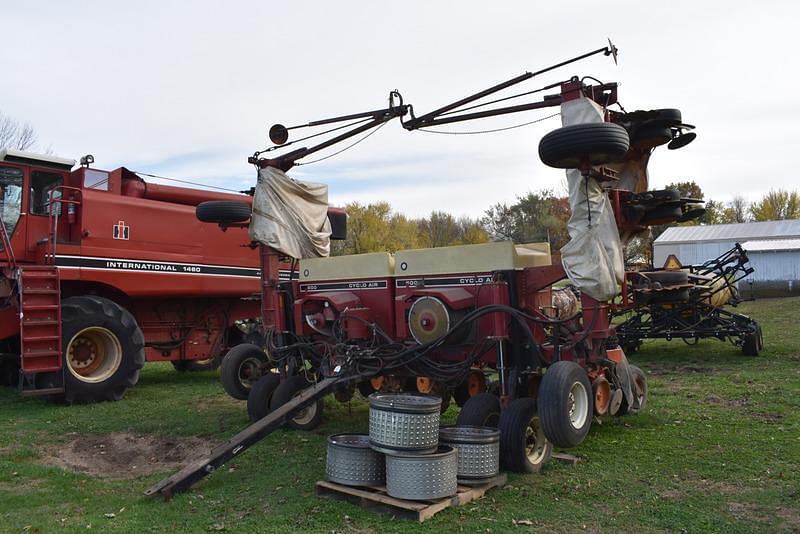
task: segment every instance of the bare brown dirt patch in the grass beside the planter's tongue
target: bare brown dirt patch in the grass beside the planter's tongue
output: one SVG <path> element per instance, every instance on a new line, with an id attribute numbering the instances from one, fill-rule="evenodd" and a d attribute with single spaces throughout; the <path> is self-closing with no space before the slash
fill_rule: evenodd
<path id="1" fill-rule="evenodd" d="M 200 438 L 163 438 L 127 432 L 76 434 L 44 462 L 97 478 L 125 479 L 177 469 L 208 453 L 214 443 Z"/>

